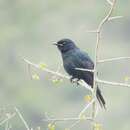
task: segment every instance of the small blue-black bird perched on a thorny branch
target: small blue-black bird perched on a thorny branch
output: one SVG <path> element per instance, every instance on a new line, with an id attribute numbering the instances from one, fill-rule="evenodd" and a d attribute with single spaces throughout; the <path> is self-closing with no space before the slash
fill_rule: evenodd
<path id="1" fill-rule="evenodd" d="M 55 43 L 55 45 L 61 52 L 64 69 L 72 77 L 71 81 L 73 81 L 73 79 L 78 80 L 82 79 L 93 88 L 93 79 L 94 79 L 93 72 L 87 72 L 75 69 L 75 68 L 84 68 L 90 70 L 94 69 L 94 63 L 88 56 L 88 54 L 80 50 L 75 45 L 75 43 L 70 39 L 62 39 L 57 43 Z M 98 87 L 96 97 L 101 107 L 105 108 L 106 103 Z"/>

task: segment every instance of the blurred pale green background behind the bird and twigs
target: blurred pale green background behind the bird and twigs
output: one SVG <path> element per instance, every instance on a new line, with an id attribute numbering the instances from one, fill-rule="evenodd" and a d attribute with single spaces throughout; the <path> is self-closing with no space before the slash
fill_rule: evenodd
<path id="1" fill-rule="evenodd" d="M 62 38 L 73 39 L 94 59 L 96 35 L 87 30 L 97 28 L 109 9 L 106 0 L 0 0 L 0 120 L 4 113 L 17 106 L 30 127 L 47 129 L 44 113 L 50 117 L 76 117 L 88 94 L 68 80 L 55 85 L 51 75 L 38 73 L 40 80 L 30 80 L 27 65 L 22 57 L 34 63 L 43 62 L 56 70 L 62 64 L 60 53 L 52 43 Z M 117 0 L 113 15 L 122 19 L 104 26 L 100 44 L 100 59 L 130 56 L 130 1 Z M 130 61 L 99 65 L 99 77 L 108 81 L 125 82 L 130 76 Z M 65 74 L 64 70 L 61 70 Z M 130 81 L 128 81 L 130 83 Z M 97 121 L 104 130 L 130 129 L 130 89 L 100 85 L 107 102 L 107 111 L 99 111 Z M 24 130 L 15 116 L 9 121 L 11 130 Z M 69 127 L 72 122 L 57 124 L 57 130 Z M 3 130 L 5 125 L 0 126 Z M 83 121 L 76 130 L 89 129 Z"/>

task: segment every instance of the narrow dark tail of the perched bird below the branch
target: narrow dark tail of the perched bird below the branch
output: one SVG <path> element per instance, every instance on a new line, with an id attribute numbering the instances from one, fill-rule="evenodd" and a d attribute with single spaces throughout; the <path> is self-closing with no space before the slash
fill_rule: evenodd
<path id="1" fill-rule="evenodd" d="M 97 87 L 96 97 L 99 101 L 99 104 L 102 108 L 106 109 L 106 102 L 105 99 L 102 96 L 101 90 Z"/>

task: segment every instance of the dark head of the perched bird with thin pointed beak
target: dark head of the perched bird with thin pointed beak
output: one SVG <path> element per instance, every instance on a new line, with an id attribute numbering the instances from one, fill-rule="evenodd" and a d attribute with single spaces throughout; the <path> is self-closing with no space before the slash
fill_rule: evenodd
<path id="1" fill-rule="evenodd" d="M 70 39 L 62 39 L 57 43 L 55 43 L 54 45 L 57 46 L 57 48 L 61 51 L 61 53 L 77 48 L 74 42 Z"/>

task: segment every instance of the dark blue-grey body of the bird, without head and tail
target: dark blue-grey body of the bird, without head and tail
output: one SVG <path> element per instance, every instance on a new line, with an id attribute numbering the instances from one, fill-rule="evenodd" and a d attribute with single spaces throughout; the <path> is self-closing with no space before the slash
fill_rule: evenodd
<path id="1" fill-rule="evenodd" d="M 87 53 L 75 49 L 67 53 L 64 57 L 64 68 L 65 70 L 75 78 L 83 79 L 86 83 L 93 86 L 93 73 L 75 68 L 93 69 L 94 64 Z"/>

